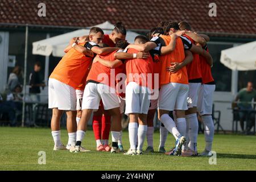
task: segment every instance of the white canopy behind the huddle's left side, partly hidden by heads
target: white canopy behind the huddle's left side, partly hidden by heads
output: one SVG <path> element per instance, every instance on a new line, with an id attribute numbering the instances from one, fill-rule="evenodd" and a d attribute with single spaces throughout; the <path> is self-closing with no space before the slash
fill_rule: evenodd
<path id="1" fill-rule="evenodd" d="M 102 28 L 102 30 L 104 30 L 104 34 L 110 34 L 114 28 L 114 25 L 109 22 L 105 22 L 105 23 L 96 25 L 96 27 Z M 67 34 L 53 36 L 52 38 L 49 38 L 49 39 L 44 39 L 44 40 L 34 42 L 32 43 L 33 45 L 32 54 L 49 56 L 52 53 L 52 55 L 55 57 L 63 57 L 65 54 L 64 48 L 68 45 L 69 40 L 72 39 L 73 37 L 89 35 L 89 30 L 90 30 L 89 28 L 90 27 L 88 27 L 88 29 L 76 30 L 76 31 L 68 32 Z M 127 34 L 126 34 L 127 42 L 133 43 L 134 38 L 137 35 L 139 34 L 132 31 L 127 31 Z"/>

